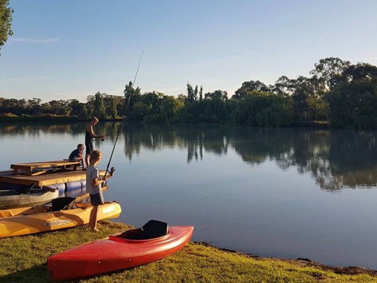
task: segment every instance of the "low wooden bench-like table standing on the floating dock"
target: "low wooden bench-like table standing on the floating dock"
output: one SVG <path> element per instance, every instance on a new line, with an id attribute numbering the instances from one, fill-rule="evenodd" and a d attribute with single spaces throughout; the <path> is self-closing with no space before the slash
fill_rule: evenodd
<path id="1" fill-rule="evenodd" d="M 43 162 L 33 162 L 33 163 L 18 163 L 11 164 L 11 169 L 15 175 L 19 171 L 26 171 L 28 176 L 37 176 L 45 174 L 47 169 L 65 169 L 67 167 L 73 167 L 73 170 L 77 170 L 81 161 L 69 161 L 69 160 L 55 160 L 55 161 L 43 161 Z M 38 170 L 34 171 L 33 170 Z"/>

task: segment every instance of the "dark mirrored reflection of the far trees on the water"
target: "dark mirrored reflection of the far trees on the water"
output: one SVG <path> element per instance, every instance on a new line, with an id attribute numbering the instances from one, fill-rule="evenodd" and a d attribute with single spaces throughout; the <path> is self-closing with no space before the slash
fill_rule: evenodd
<path id="1" fill-rule="evenodd" d="M 101 123 L 98 134 L 114 142 L 120 123 Z M 82 135 L 85 123 L 1 125 L 1 136 L 41 133 Z M 115 132 L 115 133 L 114 133 Z M 112 134 L 111 134 L 112 133 Z M 274 161 L 282 169 L 310 173 L 321 189 L 371 188 L 377 184 L 377 133 L 303 128 L 240 128 L 226 126 L 173 126 L 124 124 L 121 131 L 125 157 L 132 160 L 142 148 L 187 150 L 187 163 L 200 161 L 203 152 L 227 155 L 234 150 L 250 166 Z M 100 147 L 100 139 L 95 139 Z"/>

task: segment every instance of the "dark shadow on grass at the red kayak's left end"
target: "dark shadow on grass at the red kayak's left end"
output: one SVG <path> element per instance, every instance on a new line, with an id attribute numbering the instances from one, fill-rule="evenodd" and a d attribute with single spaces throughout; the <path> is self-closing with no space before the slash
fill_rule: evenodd
<path id="1" fill-rule="evenodd" d="M 18 283 L 46 283 L 50 282 L 51 277 L 47 271 L 47 265 L 36 265 L 11 274 L 0 276 L 0 282 Z"/>

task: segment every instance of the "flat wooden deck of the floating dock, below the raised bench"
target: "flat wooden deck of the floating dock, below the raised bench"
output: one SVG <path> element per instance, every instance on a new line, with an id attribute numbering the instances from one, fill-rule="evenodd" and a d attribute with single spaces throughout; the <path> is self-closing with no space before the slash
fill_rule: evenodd
<path id="1" fill-rule="evenodd" d="M 34 185 L 49 186 L 72 181 L 79 181 L 86 178 L 87 171 L 69 170 L 64 172 L 47 172 L 44 175 L 28 176 L 26 173 L 15 175 L 13 170 L 0 171 L 0 182 L 18 184 L 18 185 Z M 105 171 L 100 171 L 100 175 L 105 175 Z"/>

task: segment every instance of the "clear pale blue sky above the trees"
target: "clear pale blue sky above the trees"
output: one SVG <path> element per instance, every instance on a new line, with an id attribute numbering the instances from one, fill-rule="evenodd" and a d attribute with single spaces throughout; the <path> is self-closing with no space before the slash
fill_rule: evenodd
<path id="1" fill-rule="evenodd" d="M 0 97 L 43 102 L 96 92 L 228 92 L 309 76 L 326 57 L 377 65 L 377 1 L 10 0 Z"/>

